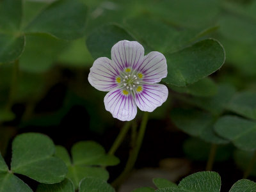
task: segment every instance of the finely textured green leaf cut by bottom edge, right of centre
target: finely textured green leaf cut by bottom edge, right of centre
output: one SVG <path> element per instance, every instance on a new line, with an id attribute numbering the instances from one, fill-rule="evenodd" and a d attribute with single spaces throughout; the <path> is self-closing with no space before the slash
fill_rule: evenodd
<path id="1" fill-rule="evenodd" d="M 221 179 L 216 172 L 198 172 L 182 179 L 179 185 L 157 189 L 157 192 L 220 192 Z"/>

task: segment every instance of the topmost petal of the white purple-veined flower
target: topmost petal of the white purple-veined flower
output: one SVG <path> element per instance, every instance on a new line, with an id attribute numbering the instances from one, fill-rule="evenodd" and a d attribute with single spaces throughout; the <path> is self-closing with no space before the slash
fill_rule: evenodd
<path id="1" fill-rule="evenodd" d="M 111 49 L 111 60 L 114 61 L 121 70 L 140 65 L 143 58 L 144 48 L 138 42 L 122 40 L 117 42 Z"/>

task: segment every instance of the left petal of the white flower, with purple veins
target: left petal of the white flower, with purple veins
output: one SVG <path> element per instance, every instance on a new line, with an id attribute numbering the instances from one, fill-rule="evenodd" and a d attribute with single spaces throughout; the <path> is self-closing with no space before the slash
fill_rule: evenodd
<path id="1" fill-rule="evenodd" d="M 90 68 L 88 81 L 97 90 L 109 92 L 116 88 L 119 70 L 109 58 L 98 58 Z"/>

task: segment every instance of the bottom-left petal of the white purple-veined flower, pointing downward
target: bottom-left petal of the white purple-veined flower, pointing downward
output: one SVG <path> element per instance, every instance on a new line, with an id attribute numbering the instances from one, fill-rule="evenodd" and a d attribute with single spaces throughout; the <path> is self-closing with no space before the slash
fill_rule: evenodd
<path id="1" fill-rule="evenodd" d="M 115 89 L 104 97 L 104 104 L 114 118 L 130 121 L 137 114 L 137 106 L 131 94 Z"/>

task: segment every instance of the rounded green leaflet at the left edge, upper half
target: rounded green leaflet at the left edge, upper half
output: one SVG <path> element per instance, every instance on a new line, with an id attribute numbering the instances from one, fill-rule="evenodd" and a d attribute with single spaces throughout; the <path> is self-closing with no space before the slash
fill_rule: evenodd
<path id="1" fill-rule="evenodd" d="M 25 36 L 0 31 L 0 45 L 0 63 L 15 61 L 24 50 Z"/>

